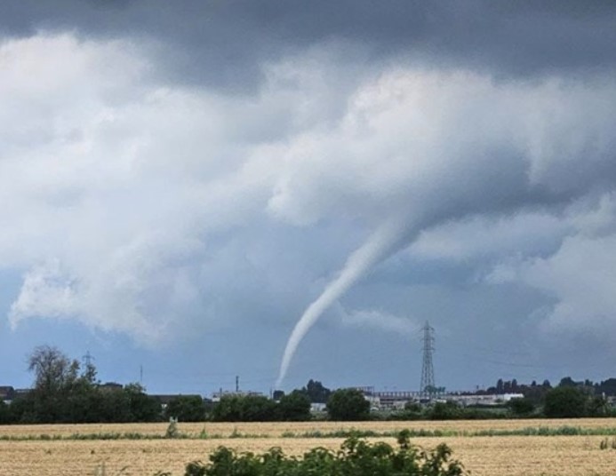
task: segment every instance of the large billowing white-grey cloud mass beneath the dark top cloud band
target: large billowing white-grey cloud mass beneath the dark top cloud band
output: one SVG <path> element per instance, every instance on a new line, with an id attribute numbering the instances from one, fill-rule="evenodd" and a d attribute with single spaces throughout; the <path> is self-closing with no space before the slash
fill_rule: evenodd
<path id="1" fill-rule="evenodd" d="M 245 258 L 212 266 L 217 240 L 266 240 L 258 232 L 273 224 L 340 221 L 339 236 L 365 236 L 396 218 L 433 228 L 412 252 L 450 258 L 608 229 L 595 209 L 573 225 L 553 218 L 553 203 L 613 186 L 613 80 L 494 83 L 411 67 L 374 79 L 312 50 L 263 65 L 258 93 L 231 96 L 163 83 L 152 60 L 139 44 L 70 34 L 0 45 L 0 266 L 25 275 L 13 324 L 65 317 L 164 340 L 187 315 L 209 316 L 204 284 Z M 474 248 L 482 230 L 492 241 Z M 319 239 L 297 247 L 329 246 Z M 260 269 L 264 288 L 284 282 L 268 276 L 279 266 Z"/>

